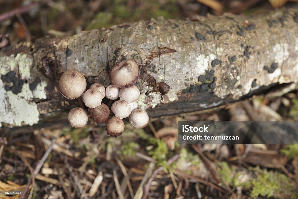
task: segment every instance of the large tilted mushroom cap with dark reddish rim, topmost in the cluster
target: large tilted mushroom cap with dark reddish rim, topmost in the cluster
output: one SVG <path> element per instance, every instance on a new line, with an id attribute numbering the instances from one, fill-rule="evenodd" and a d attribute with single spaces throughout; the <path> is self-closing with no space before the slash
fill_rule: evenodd
<path id="1" fill-rule="evenodd" d="M 118 88 L 131 87 L 140 76 L 139 66 L 133 59 L 126 59 L 115 64 L 110 72 L 111 84 Z"/>

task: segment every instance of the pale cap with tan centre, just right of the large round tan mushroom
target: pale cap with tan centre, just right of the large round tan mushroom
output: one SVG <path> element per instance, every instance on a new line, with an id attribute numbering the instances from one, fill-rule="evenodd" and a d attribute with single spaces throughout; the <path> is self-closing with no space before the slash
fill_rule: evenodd
<path id="1" fill-rule="evenodd" d="M 99 90 L 91 88 L 86 90 L 83 95 L 83 102 L 86 107 L 95 108 L 101 104 L 103 100 L 103 95 L 99 92 Z"/>

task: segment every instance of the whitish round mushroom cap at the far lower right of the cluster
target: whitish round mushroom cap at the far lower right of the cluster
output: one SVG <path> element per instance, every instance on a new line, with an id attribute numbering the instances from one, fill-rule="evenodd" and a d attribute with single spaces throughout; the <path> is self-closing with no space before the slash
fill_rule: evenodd
<path id="1" fill-rule="evenodd" d="M 131 112 L 129 116 L 129 123 L 131 126 L 141 129 L 147 126 L 149 122 L 149 116 L 146 111 L 142 109 L 135 109 Z"/>

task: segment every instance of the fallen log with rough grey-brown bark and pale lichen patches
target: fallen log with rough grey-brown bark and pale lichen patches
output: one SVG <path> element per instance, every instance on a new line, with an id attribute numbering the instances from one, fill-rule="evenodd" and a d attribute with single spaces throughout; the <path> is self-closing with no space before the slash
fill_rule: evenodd
<path id="1" fill-rule="evenodd" d="M 136 83 L 141 91 L 138 104 L 151 118 L 199 111 L 266 91 L 274 83 L 297 82 L 297 7 L 251 17 L 151 19 L 6 47 L 0 51 L 0 73 L 15 71 L 24 84 L 14 94 L 5 90 L 12 83 L 0 80 L 2 124 L 57 121 L 77 103 L 60 95 L 58 81 L 42 75 L 42 59 L 52 56 L 58 64 L 58 77 L 76 69 L 84 73 L 89 85 L 99 82 L 104 86 L 109 85 L 109 69 L 132 58 L 141 70 Z M 202 76 L 199 81 L 200 75 L 207 79 L 205 83 Z M 31 91 L 30 83 L 36 77 L 41 82 Z M 145 95 L 158 82 L 170 85 L 168 94 Z"/>

